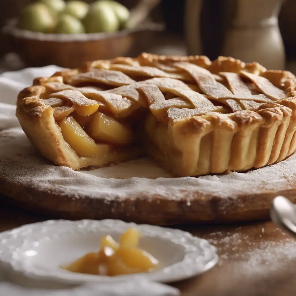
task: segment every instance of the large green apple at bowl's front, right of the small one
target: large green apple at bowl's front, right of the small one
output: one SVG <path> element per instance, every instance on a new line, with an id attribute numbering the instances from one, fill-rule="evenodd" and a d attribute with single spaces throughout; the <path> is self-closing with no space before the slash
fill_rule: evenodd
<path id="1" fill-rule="evenodd" d="M 91 5 L 83 24 L 87 33 L 115 32 L 119 29 L 119 21 L 112 6 L 100 1 Z"/>

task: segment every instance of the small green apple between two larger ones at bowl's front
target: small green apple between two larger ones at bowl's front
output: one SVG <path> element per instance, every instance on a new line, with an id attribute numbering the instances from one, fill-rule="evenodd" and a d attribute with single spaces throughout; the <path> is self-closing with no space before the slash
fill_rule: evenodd
<path id="1" fill-rule="evenodd" d="M 79 34 L 85 33 L 81 21 L 72 15 L 62 15 L 54 28 L 54 33 L 58 34 Z"/>

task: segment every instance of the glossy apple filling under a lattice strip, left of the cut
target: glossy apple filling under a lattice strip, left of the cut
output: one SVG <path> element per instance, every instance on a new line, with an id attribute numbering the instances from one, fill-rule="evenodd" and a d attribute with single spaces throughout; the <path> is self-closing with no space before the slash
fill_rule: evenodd
<path id="1" fill-rule="evenodd" d="M 135 140 L 130 126 L 100 112 L 103 103 L 78 91 L 60 91 L 44 102 L 53 108 L 64 140 L 78 157 L 106 157 L 115 146 L 127 146 Z"/>

